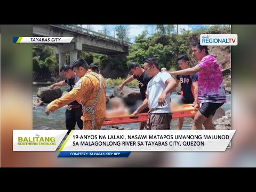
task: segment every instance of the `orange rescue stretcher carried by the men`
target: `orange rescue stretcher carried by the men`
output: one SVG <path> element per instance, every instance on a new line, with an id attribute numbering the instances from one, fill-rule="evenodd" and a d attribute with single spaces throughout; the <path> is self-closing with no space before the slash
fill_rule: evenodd
<path id="1" fill-rule="evenodd" d="M 194 117 L 196 113 L 197 111 L 195 111 L 193 104 L 185 104 L 182 106 L 175 107 L 175 109 L 172 110 L 172 118 Z M 147 115 L 148 113 L 142 113 L 137 115 L 106 117 L 103 123 L 103 126 L 147 122 L 148 121 Z"/>

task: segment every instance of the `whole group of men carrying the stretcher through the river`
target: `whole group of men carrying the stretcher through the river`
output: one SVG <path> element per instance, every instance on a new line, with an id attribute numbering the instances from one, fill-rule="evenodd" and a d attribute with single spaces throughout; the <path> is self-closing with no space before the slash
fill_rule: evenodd
<path id="1" fill-rule="evenodd" d="M 212 118 L 215 111 L 226 102 L 226 92 L 223 86 L 221 67 L 218 61 L 208 53 L 207 46 L 200 42 L 192 45 L 192 56 L 198 60 L 194 67 L 189 67 L 189 57 L 180 55 L 177 59 L 181 70 L 159 70 L 156 58 L 148 58 L 143 63 L 130 63 L 129 70 L 133 74 L 120 86 L 122 91 L 125 84 L 137 79 L 141 93 L 142 104 L 133 112 L 148 112 L 148 121 L 141 123 L 140 129 L 170 130 L 172 113 L 170 95 L 181 83 L 181 101 L 183 104 L 192 103 L 197 113 L 193 120 L 192 130 L 213 130 Z M 45 114 L 68 105 L 66 110 L 66 127 L 75 129 L 101 129 L 106 117 L 106 82 L 99 74 L 97 66 L 91 69 L 84 59 L 77 59 L 72 66 L 64 65 L 60 72 L 65 80 L 50 86 L 68 85 L 68 93 L 49 103 Z M 171 76 L 175 76 L 175 79 Z M 183 118 L 178 119 L 178 129 L 182 129 Z"/>

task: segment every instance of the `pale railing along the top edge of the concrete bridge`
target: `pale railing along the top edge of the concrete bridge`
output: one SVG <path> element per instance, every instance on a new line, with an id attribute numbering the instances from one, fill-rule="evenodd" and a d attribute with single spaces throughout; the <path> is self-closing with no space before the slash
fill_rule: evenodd
<path id="1" fill-rule="evenodd" d="M 56 25 L 54 25 L 54 26 L 56 26 Z M 126 41 L 123 41 L 123 40 L 115 38 L 115 37 L 111 37 L 111 36 L 108 36 L 108 35 L 105 35 L 105 34 L 101 34 L 101 33 L 98 33 L 96 31 L 83 28 L 81 26 L 77 26 L 77 25 L 58 25 L 58 26 L 61 26 L 63 28 L 69 29 L 69 30 L 71 29 L 75 32 L 98 36 L 98 37 L 101 37 L 101 38 L 104 38 L 104 39 L 107 39 L 107 40 L 111 40 L 111 41 L 115 41 L 115 42 L 119 42 L 121 44 L 125 44 L 125 45 L 128 45 L 128 46 L 132 45 L 132 43 L 130 43 L 130 42 L 126 42 Z"/>

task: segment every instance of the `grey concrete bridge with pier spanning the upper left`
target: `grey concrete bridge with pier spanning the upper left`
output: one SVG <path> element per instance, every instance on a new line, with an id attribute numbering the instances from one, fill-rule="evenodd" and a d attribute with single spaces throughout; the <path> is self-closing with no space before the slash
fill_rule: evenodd
<path id="1" fill-rule="evenodd" d="M 70 63 L 73 63 L 77 59 L 78 51 L 107 55 L 128 54 L 128 48 L 132 44 L 76 25 L 33 25 L 33 35 L 74 37 L 71 43 L 45 43 L 56 47 L 59 67 L 65 63 L 67 52 L 70 53 Z"/>

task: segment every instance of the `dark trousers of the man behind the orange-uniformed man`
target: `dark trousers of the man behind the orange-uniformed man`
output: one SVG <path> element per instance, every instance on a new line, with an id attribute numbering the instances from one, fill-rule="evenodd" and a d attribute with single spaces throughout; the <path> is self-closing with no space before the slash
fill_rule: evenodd
<path id="1" fill-rule="evenodd" d="M 82 115 L 82 107 L 66 110 L 66 127 L 68 130 L 67 134 L 69 134 L 71 130 L 75 129 L 76 123 L 79 129 L 83 129 L 83 121 L 81 120 Z"/>

